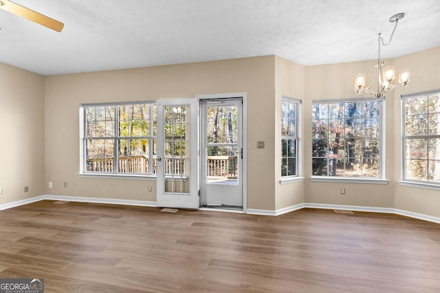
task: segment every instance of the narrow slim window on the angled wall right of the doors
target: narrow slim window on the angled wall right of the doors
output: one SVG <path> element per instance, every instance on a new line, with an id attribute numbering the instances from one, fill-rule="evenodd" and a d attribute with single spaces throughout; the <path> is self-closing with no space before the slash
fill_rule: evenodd
<path id="1" fill-rule="evenodd" d="M 298 114 L 300 100 L 281 100 L 281 176 L 298 176 Z"/>

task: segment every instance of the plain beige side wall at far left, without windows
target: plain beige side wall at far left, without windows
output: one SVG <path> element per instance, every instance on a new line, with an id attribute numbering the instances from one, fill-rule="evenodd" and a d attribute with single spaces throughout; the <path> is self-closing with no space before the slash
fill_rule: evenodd
<path id="1" fill-rule="evenodd" d="M 43 76 L 0 63 L 0 91 L 3 204 L 44 194 Z"/>

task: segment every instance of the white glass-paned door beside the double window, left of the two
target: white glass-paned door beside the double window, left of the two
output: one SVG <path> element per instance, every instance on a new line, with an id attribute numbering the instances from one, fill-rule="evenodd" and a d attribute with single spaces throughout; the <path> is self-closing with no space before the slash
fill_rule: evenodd
<path id="1" fill-rule="evenodd" d="M 195 123 L 193 122 L 195 121 Z M 198 209 L 197 99 L 157 102 L 157 207 Z"/>

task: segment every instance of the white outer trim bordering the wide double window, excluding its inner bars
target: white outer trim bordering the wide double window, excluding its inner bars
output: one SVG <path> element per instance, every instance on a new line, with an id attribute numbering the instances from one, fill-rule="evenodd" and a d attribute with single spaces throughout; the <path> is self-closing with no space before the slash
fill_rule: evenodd
<path id="1" fill-rule="evenodd" d="M 84 161 L 84 137 L 85 137 L 85 117 L 84 108 L 91 106 L 121 106 L 130 104 L 157 104 L 157 100 L 148 101 L 129 101 L 129 102 L 109 102 L 109 103 L 83 103 L 79 105 L 79 134 L 80 134 L 80 170 L 77 174 L 78 177 L 83 178 L 118 178 L 118 179 L 137 179 L 137 180 L 151 180 L 156 179 L 157 174 L 136 174 L 136 173 L 104 173 L 104 172 L 86 172 Z M 152 128 L 151 128 L 152 129 Z M 152 152 L 153 146 L 150 146 L 150 152 Z M 153 156 L 153 154 L 151 155 Z"/>

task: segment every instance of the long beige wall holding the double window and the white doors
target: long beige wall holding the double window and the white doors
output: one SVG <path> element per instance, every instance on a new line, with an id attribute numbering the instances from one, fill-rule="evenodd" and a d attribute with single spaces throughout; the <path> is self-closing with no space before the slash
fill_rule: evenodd
<path id="1" fill-rule="evenodd" d="M 189 98 L 247 93 L 248 208 L 274 203 L 274 56 L 184 65 L 57 75 L 45 78 L 46 194 L 155 201 L 155 180 L 82 178 L 79 166 L 80 103 Z M 266 148 L 256 149 L 256 141 Z M 67 182 L 67 188 L 63 183 Z M 148 192 L 153 185 L 153 192 Z"/>

